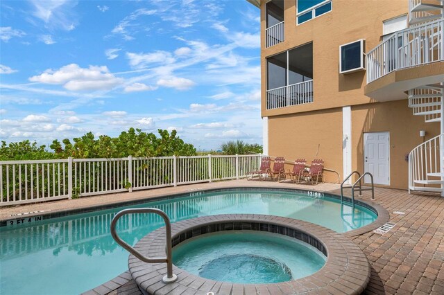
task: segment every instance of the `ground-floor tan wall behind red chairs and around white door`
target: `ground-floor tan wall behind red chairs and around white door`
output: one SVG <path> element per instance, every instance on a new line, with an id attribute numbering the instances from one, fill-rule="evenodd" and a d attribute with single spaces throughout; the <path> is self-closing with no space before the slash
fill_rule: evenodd
<path id="1" fill-rule="evenodd" d="M 390 187 L 407 189 L 405 157 L 422 143 L 421 129 L 426 130 L 427 141 L 439 134 L 439 123 L 425 123 L 424 116 L 413 116 L 407 100 L 352 107 L 352 170 L 364 171 L 364 132 L 390 132 Z M 341 108 L 269 117 L 268 131 L 271 156 L 283 156 L 287 161 L 302 157 L 309 163 L 320 145 L 318 158 L 325 161 L 325 168 L 339 172 L 342 181 Z M 325 181 L 337 181 L 334 173 L 325 175 Z"/>

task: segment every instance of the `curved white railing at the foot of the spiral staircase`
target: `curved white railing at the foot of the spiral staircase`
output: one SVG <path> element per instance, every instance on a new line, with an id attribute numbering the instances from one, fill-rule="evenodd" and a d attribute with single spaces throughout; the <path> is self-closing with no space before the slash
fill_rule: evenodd
<path id="1" fill-rule="evenodd" d="M 441 181 L 441 157 L 443 157 L 444 134 L 435 136 L 415 147 L 409 153 L 409 191 L 429 190 L 438 191 L 441 187 L 422 187 L 439 184 Z"/>

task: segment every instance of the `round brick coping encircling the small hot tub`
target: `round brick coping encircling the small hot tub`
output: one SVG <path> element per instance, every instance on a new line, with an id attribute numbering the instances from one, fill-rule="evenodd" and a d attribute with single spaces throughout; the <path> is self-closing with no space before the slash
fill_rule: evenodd
<path id="1" fill-rule="evenodd" d="M 187 271 L 173 265 L 173 273 L 178 276 L 174 283 L 163 283 L 162 277 L 167 273 L 165 263 L 147 264 L 135 256 L 128 257 L 128 269 L 143 294 L 255 294 L 260 290 L 268 290 L 271 294 L 300 294 L 312 293 L 341 293 L 360 294 L 364 292 L 370 280 L 370 265 L 361 249 L 344 235 L 336 233 L 323 226 L 294 220 L 288 217 L 256 214 L 224 214 L 197 217 L 191 220 L 183 220 L 171 224 L 173 240 L 182 237 L 184 233 L 191 231 L 194 236 L 201 229 L 209 226 L 217 227 L 219 224 L 230 224 L 230 229 L 236 230 L 236 224 L 241 229 L 252 229 L 252 224 L 267 225 L 267 229 L 273 233 L 289 236 L 302 233 L 300 240 L 311 245 L 317 245 L 327 253 L 325 265 L 316 273 L 305 278 L 290 280 L 283 283 L 273 284 L 234 284 L 218 282 L 189 274 Z M 248 226 L 250 224 L 250 227 Z M 270 229 L 273 229 L 272 231 Z M 286 229 L 282 233 L 282 229 Z M 260 229 L 262 231 L 262 229 Z M 218 231 L 217 229 L 215 231 Z M 294 232 L 294 234 L 293 234 Z M 191 237 L 189 237 L 191 238 Z M 293 237 L 293 238 L 296 238 Z M 187 240 L 185 238 L 184 240 Z M 319 244 L 321 243 L 321 244 Z M 146 235 L 137 242 L 135 249 L 145 256 L 162 257 L 165 255 L 165 231 L 164 227 Z"/>

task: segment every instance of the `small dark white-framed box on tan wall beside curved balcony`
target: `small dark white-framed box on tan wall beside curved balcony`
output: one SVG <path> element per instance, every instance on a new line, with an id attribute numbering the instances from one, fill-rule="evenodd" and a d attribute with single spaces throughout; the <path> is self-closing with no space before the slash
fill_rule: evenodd
<path id="1" fill-rule="evenodd" d="M 359 39 L 339 46 L 339 73 L 348 74 L 366 70 L 366 41 Z"/>

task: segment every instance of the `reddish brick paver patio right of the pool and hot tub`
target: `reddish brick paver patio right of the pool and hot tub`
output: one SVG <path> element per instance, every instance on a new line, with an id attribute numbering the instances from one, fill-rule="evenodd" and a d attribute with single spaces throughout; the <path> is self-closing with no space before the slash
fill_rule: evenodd
<path id="1" fill-rule="evenodd" d="M 372 268 L 366 294 L 444 294 L 444 197 L 383 188 L 375 195 L 396 225 L 384 235 L 351 238 Z"/>

